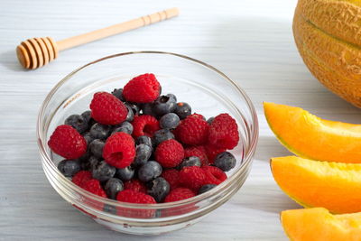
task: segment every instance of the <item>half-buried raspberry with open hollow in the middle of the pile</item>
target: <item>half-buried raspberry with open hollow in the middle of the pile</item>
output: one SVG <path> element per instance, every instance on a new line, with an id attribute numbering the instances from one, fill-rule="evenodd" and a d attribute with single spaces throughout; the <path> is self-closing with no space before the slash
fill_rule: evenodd
<path id="1" fill-rule="evenodd" d="M 134 116 L 132 125 L 135 138 L 141 135 L 153 137 L 153 134 L 160 129 L 159 121 L 154 116 L 148 115 Z"/>

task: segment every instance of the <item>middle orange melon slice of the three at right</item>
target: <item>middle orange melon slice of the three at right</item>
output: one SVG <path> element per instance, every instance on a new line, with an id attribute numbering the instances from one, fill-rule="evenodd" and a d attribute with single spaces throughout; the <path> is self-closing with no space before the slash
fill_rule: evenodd
<path id="1" fill-rule="evenodd" d="M 297 156 L 271 159 L 274 181 L 304 207 L 333 213 L 361 211 L 361 164 L 319 162 Z"/>

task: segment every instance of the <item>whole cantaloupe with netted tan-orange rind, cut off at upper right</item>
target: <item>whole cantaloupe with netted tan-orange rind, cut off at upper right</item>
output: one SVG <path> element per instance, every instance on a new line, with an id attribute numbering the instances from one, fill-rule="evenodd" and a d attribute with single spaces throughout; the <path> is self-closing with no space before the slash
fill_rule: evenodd
<path id="1" fill-rule="evenodd" d="M 292 28 L 310 72 L 361 107 L 361 1 L 299 0 Z"/>

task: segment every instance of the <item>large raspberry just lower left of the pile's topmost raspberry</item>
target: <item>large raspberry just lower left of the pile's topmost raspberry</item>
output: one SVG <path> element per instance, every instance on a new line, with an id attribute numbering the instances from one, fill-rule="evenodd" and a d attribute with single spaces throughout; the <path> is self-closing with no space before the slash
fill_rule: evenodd
<path id="1" fill-rule="evenodd" d="M 117 97 L 107 92 L 97 92 L 90 103 L 91 116 L 104 125 L 117 125 L 125 121 L 128 109 Z"/>

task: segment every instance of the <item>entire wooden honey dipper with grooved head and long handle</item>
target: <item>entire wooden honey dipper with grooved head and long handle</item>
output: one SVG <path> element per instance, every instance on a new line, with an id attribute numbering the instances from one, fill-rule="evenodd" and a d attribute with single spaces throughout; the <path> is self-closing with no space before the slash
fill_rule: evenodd
<path id="1" fill-rule="evenodd" d="M 158 23 L 177 16 L 178 14 L 178 8 L 174 7 L 58 42 L 55 42 L 51 37 L 28 39 L 16 47 L 16 55 L 23 68 L 37 69 L 49 63 L 51 60 L 55 60 L 59 55 L 59 51 L 64 51 L 87 42 L 97 41 L 152 23 Z"/>

